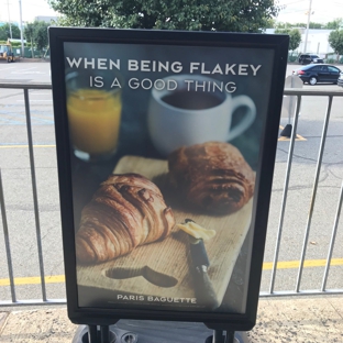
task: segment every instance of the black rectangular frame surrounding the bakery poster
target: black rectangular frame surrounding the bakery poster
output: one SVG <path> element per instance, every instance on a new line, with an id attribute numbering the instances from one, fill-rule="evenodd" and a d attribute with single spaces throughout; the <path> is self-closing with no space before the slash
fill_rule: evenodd
<path id="1" fill-rule="evenodd" d="M 264 176 L 259 179 L 254 206 L 255 230 L 248 275 L 245 313 L 158 311 L 141 309 L 80 308 L 76 277 L 76 252 L 73 212 L 73 181 L 70 176 L 70 142 L 66 113 L 66 86 L 64 43 L 110 43 L 153 44 L 207 47 L 267 48 L 274 52 L 273 75 L 270 76 L 269 103 L 266 125 L 259 154 Z M 147 319 L 204 322 L 210 329 L 251 330 L 256 321 L 259 283 L 268 208 L 273 181 L 273 170 L 278 135 L 279 113 L 283 102 L 285 71 L 288 54 L 288 35 L 49 27 L 53 100 L 60 192 L 63 244 L 66 274 L 66 290 L 69 319 L 77 324 L 113 324 L 120 319 Z M 258 215 L 255 215 L 258 213 Z"/>

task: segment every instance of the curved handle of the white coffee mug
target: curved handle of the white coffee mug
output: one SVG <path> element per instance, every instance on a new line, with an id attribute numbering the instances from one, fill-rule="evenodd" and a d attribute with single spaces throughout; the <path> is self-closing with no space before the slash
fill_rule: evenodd
<path id="1" fill-rule="evenodd" d="M 231 101 L 231 113 L 233 113 L 237 108 L 245 107 L 246 112 L 240 123 L 234 125 L 234 128 L 229 131 L 228 141 L 232 141 L 244 132 L 255 120 L 256 107 L 254 101 L 247 96 L 237 96 Z"/>

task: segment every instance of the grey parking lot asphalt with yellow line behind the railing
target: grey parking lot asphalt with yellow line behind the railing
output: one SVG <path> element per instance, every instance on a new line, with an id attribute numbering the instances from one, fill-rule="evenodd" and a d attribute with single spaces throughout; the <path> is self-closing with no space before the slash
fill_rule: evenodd
<path id="1" fill-rule="evenodd" d="M 297 66 L 288 66 L 287 75 Z M 49 82 L 48 63 L 0 64 L 0 82 L 32 81 Z M 336 90 L 336 85 L 303 86 L 320 90 Z M 38 256 L 36 250 L 35 220 L 33 215 L 32 186 L 27 153 L 27 134 L 22 90 L 0 89 L 0 161 L 7 208 L 7 221 L 12 251 L 14 277 L 19 299 L 41 297 L 38 285 Z M 31 118 L 34 142 L 34 162 L 37 180 L 40 226 L 42 230 L 44 270 L 47 277 L 47 297 L 65 298 L 63 284 L 63 247 L 60 241 L 57 166 L 54 139 L 52 93 L 49 90 L 30 91 Z M 297 278 L 295 265 L 301 255 L 303 231 L 307 226 L 319 146 L 327 107 L 327 97 L 307 97 L 302 101 L 298 124 L 299 141 L 296 142 L 290 184 L 281 235 L 275 290 L 292 290 Z M 306 267 L 302 289 L 319 289 L 322 284 L 323 261 L 335 217 L 339 191 L 343 179 L 343 98 L 334 100 L 328 129 L 314 213 L 311 221 L 306 259 L 312 267 Z M 288 117 L 280 125 L 288 123 Z M 262 290 L 268 290 L 270 262 L 274 258 L 280 203 L 285 182 L 289 142 L 279 141 L 273 184 L 265 270 Z M 342 242 L 342 219 L 336 242 Z M 0 251 L 4 251 L 2 233 Z M 343 288 L 343 247 L 335 244 L 335 266 L 329 275 L 328 288 Z M 10 299 L 8 270 L 4 258 L 0 261 L 0 298 Z"/>

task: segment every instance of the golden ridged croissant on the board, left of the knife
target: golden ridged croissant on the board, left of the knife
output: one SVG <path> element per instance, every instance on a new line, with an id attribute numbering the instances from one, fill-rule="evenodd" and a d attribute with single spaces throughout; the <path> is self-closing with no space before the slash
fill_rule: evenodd
<path id="1" fill-rule="evenodd" d="M 101 263 L 166 237 L 175 225 L 158 187 L 139 174 L 111 175 L 81 212 L 76 256 Z"/>

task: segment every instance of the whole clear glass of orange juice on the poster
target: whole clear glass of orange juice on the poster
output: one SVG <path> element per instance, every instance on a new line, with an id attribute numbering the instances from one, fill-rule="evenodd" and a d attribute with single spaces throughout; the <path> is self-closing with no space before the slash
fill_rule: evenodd
<path id="1" fill-rule="evenodd" d="M 111 71 L 67 74 L 69 134 L 77 157 L 107 161 L 118 147 L 121 122 L 121 80 Z"/>

